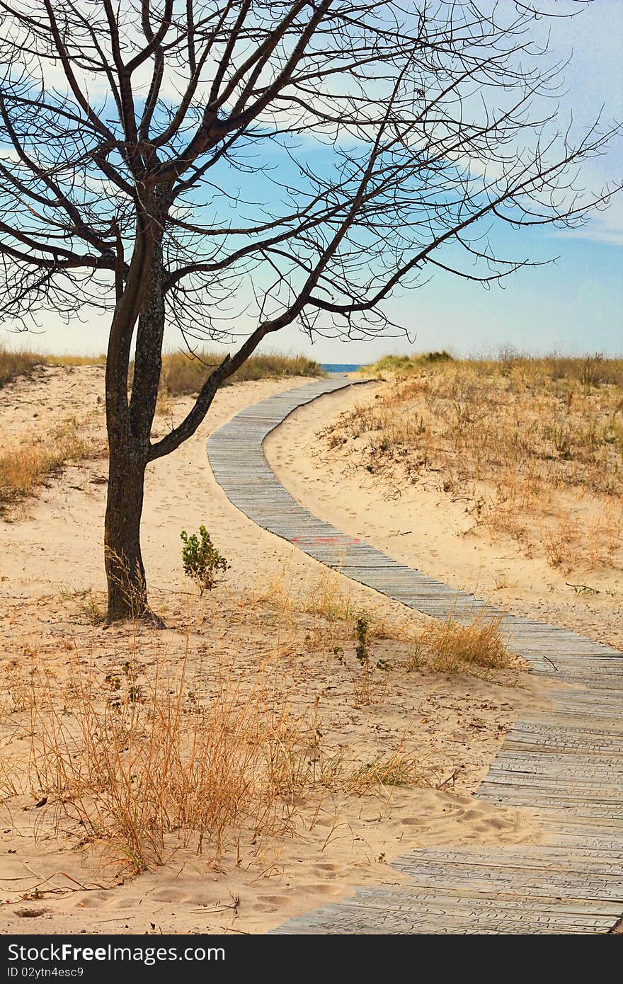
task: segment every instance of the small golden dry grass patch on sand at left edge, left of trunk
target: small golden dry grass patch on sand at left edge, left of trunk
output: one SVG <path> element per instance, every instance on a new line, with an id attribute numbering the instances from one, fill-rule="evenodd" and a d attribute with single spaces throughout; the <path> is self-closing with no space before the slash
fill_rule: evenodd
<path id="1" fill-rule="evenodd" d="M 51 434 L 34 432 L 7 442 L 0 451 L 0 510 L 34 495 L 64 465 L 104 455 L 87 425 L 87 420 L 66 420 Z"/>

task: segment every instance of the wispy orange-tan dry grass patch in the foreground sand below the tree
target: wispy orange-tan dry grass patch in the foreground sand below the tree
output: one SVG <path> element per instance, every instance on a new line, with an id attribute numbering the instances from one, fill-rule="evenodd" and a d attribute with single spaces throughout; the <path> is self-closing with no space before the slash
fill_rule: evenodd
<path id="1" fill-rule="evenodd" d="M 241 831 L 252 843 L 294 835 L 301 809 L 313 798 L 317 817 L 328 790 L 434 784 L 405 740 L 363 765 L 325 748 L 317 700 L 300 709 L 277 654 L 215 680 L 196 663 L 191 671 L 187 640 L 180 664 L 149 676 L 135 638 L 104 675 L 93 653 L 66 642 L 69 681 L 25 649 L 0 688 L 2 798 L 30 793 L 48 829 L 50 818 L 57 833 L 69 823 L 132 872 L 180 844 L 218 863 Z"/>

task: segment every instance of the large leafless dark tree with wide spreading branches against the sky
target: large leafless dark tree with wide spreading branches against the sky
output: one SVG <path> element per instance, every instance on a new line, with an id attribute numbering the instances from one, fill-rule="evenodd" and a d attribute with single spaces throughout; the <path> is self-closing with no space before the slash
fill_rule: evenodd
<path id="1" fill-rule="evenodd" d="M 109 620 L 137 598 L 149 615 L 147 464 L 262 339 L 292 323 L 387 332 L 383 302 L 424 271 L 487 284 L 525 265 L 483 220 L 570 225 L 611 191 L 576 181 L 616 128 L 561 129 L 561 66 L 527 2 L 0 0 L 0 14 L 4 320 L 112 312 Z M 212 338 L 233 354 L 152 442 L 167 322 L 191 350 Z"/>

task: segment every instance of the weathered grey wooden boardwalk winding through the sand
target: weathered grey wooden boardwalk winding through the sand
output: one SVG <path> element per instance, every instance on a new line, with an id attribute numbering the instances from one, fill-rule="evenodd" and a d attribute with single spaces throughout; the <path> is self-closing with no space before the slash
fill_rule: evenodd
<path id="1" fill-rule="evenodd" d="M 343 377 L 322 380 L 243 410 L 208 442 L 215 476 L 251 520 L 353 581 L 438 618 L 503 615 L 509 646 L 532 672 L 562 686 L 551 691 L 552 707 L 522 714 L 478 796 L 529 810 L 552 844 L 410 850 L 394 862 L 408 885 L 358 889 L 273 932 L 611 932 L 623 914 L 623 656 L 577 633 L 495 612 L 299 505 L 269 467 L 264 438 L 296 407 L 348 385 Z"/>

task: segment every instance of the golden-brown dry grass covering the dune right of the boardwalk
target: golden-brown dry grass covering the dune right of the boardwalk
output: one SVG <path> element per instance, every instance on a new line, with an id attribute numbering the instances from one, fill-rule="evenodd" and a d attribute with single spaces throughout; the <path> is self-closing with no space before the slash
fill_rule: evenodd
<path id="1" fill-rule="evenodd" d="M 472 529 L 515 539 L 529 557 L 621 567 L 623 360 L 442 354 L 377 363 L 393 378 L 320 435 L 328 448 L 343 447 L 388 495 L 439 476 Z"/>

